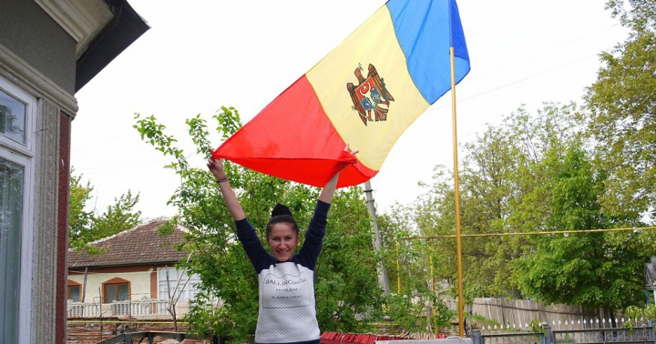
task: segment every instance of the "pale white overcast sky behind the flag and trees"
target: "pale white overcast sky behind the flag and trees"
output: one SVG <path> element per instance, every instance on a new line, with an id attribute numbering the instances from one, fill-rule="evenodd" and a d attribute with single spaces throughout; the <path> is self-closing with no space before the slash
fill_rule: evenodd
<path id="1" fill-rule="evenodd" d="M 77 92 L 71 165 L 94 187 L 98 214 L 130 190 L 145 219 L 171 217 L 181 180 L 171 162 L 132 126 L 155 116 L 179 140 L 192 167 L 205 168 L 185 119 L 234 106 L 248 122 L 384 5 L 382 0 L 129 0 L 150 25 Z M 456 86 L 456 137 L 473 141 L 520 106 L 581 103 L 596 79 L 599 54 L 627 30 L 603 0 L 460 0 L 471 71 Z M 378 212 L 408 205 L 433 169 L 454 167 L 451 93 L 409 126 L 372 178 Z M 289 135 L 293 135 L 290 133 Z M 210 137 L 220 145 L 220 137 Z M 462 149 L 458 156 L 463 157 Z"/>

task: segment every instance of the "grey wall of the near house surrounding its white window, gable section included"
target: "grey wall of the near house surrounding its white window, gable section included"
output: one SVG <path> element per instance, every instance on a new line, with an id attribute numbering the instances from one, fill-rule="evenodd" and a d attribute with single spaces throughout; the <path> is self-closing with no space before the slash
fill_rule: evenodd
<path id="1" fill-rule="evenodd" d="M 70 124 L 77 113 L 75 41 L 34 1 L 0 1 L 0 75 L 36 98 L 34 174 L 24 211 L 30 233 L 21 266 L 21 343 L 66 342 Z M 25 242 L 25 241 L 24 241 Z M 25 282 L 25 283 L 24 283 Z M 25 329 L 25 330 L 24 330 Z"/>

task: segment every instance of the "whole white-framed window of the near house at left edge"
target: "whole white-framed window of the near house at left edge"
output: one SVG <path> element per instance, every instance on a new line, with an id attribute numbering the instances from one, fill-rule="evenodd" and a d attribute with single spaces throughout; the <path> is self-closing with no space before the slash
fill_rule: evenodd
<path id="1" fill-rule="evenodd" d="M 29 331 L 36 98 L 0 76 L 0 342 Z M 21 339 L 24 340 L 24 339 Z"/>

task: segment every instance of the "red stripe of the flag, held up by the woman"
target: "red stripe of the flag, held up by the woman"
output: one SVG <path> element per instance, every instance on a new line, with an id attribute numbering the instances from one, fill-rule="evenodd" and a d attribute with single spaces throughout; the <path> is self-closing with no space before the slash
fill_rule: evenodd
<path id="1" fill-rule="evenodd" d="M 315 187 L 323 187 L 345 166 L 338 187 L 374 177 L 377 171 L 344 152 L 345 146 L 313 87 L 302 76 L 228 138 L 212 157 Z"/>

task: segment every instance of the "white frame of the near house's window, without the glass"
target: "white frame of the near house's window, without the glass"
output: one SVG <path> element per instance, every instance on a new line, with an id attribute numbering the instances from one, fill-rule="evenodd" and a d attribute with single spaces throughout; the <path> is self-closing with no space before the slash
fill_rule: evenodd
<path id="1" fill-rule="evenodd" d="M 14 96 L 26 105 L 25 144 L 16 142 L 0 134 L 0 157 L 24 167 L 23 180 L 23 214 L 21 218 L 20 281 L 18 300 L 18 343 L 32 342 L 32 273 L 34 238 L 34 200 L 35 200 L 35 150 L 36 150 L 36 116 L 38 102 L 36 96 L 0 76 L 0 89 Z"/>

